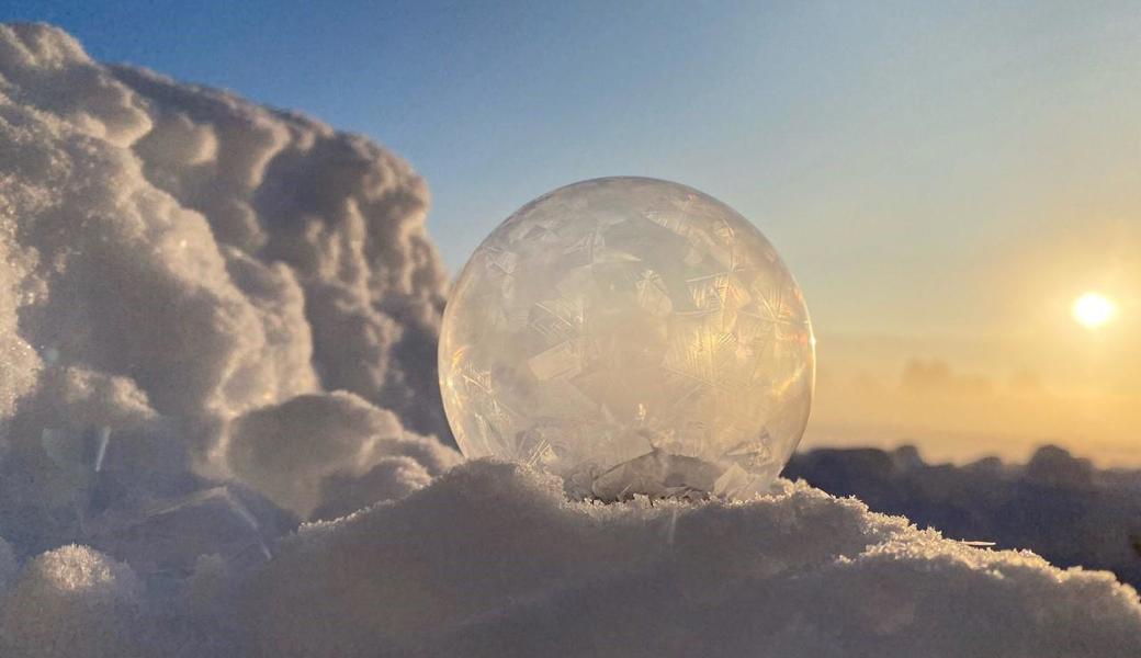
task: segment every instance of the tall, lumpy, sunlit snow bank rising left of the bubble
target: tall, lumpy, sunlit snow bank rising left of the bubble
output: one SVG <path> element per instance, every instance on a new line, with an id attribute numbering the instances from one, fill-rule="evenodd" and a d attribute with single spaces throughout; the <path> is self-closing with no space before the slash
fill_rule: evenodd
<path id="1" fill-rule="evenodd" d="M 447 277 L 402 160 L 22 24 L 0 25 L 0 529 L 17 526 L 17 553 L 86 542 L 106 512 L 91 492 L 139 507 L 212 486 L 169 490 L 193 474 L 305 517 L 345 507 L 324 496 L 386 458 L 456 461 L 424 438 L 451 441 Z M 413 471 L 372 489 L 422 486 Z"/>

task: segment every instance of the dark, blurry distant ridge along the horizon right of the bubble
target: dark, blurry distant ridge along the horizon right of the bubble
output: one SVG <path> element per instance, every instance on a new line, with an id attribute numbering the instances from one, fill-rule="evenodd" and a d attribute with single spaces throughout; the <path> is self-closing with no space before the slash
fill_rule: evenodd
<path id="1" fill-rule="evenodd" d="M 963 466 L 928 464 L 905 446 L 817 449 L 795 455 L 784 474 L 950 537 L 1030 549 L 1141 586 L 1141 471 L 1098 470 L 1055 446 L 1026 465 L 987 457 Z"/>

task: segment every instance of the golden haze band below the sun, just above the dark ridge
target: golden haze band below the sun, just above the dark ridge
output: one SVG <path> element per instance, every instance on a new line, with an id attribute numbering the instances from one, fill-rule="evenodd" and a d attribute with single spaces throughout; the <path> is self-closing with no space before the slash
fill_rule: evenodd
<path id="1" fill-rule="evenodd" d="M 1051 442 L 1100 465 L 1141 466 L 1141 396 L 1128 389 L 1059 389 L 1026 368 L 978 374 L 997 360 L 973 359 L 972 371 L 963 365 L 972 363 L 968 356 L 904 357 L 883 347 L 844 363 L 863 344 L 833 347 L 843 358 L 828 360 L 832 368 L 819 377 L 803 446 L 916 444 L 934 458 L 964 463 L 984 455 L 1025 461 Z"/>

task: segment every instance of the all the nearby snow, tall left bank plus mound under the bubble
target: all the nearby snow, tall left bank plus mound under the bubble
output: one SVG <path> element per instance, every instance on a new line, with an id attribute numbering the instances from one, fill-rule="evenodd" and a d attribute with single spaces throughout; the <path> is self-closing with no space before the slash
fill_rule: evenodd
<path id="1" fill-rule="evenodd" d="M 456 466 L 426 206 L 362 137 L 0 27 L 0 655 L 1141 644 L 1109 574 L 804 485 L 596 505 Z"/>

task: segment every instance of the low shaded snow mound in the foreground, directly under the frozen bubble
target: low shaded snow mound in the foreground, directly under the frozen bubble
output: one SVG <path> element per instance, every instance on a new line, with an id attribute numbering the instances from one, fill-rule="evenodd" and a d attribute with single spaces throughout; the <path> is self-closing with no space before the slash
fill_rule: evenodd
<path id="1" fill-rule="evenodd" d="M 241 607 L 254 656 L 1125 657 L 1141 642 L 1136 592 L 1109 574 L 803 484 L 600 505 L 492 462 L 302 527 Z"/>

